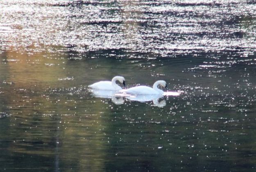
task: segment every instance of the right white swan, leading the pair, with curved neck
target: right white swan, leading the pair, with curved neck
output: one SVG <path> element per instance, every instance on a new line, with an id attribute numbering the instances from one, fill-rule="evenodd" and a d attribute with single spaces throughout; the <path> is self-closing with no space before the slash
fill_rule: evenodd
<path id="1" fill-rule="evenodd" d="M 166 82 L 164 80 L 158 80 L 154 83 L 153 88 L 147 86 L 137 86 L 128 89 L 122 89 L 120 92 L 127 94 L 163 94 L 163 90 L 159 89 L 157 86 L 161 85 L 167 89 Z"/>

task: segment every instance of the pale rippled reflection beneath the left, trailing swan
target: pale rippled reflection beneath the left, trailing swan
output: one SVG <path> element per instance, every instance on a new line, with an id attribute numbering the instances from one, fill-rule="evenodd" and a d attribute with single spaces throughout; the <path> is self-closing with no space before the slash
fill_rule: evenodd
<path id="1" fill-rule="evenodd" d="M 101 89 L 88 89 L 94 97 L 97 98 L 109 98 L 116 105 L 122 105 L 125 102 L 123 97 L 118 97 L 115 94 L 117 91 L 113 90 L 101 90 Z"/>

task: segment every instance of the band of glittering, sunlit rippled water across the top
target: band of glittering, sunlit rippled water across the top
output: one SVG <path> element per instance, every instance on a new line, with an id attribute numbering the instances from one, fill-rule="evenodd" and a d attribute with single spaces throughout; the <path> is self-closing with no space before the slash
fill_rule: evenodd
<path id="1" fill-rule="evenodd" d="M 40 51 L 43 45 L 49 51 L 63 46 L 80 56 L 89 51 L 123 49 L 125 54 L 161 57 L 220 51 L 246 57 L 256 48 L 255 10 L 251 10 L 255 3 L 246 0 L 18 3 L 3 3 L 6 15 L 1 18 L 0 35 L 6 40 L 5 49 L 29 49 L 32 45 Z"/>

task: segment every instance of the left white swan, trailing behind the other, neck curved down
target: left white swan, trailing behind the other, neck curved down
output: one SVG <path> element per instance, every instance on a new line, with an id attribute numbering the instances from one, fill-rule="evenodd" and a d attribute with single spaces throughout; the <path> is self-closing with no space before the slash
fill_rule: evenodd
<path id="1" fill-rule="evenodd" d="M 102 89 L 102 90 L 121 90 L 122 87 L 116 84 L 117 80 L 125 86 L 125 78 L 122 76 L 115 76 L 111 81 L 100 81 L 100 82 L 88 85 L 88 87 L 93 89 Z"/>

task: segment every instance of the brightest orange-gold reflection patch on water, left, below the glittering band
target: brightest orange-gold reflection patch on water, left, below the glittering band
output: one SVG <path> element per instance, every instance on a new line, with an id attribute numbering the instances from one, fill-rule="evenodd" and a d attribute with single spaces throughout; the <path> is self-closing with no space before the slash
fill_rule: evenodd
<path id="1" fill-rule="evenodd" d="M 5 52 L 4 59 L 7 67 L 7 81 L 16 87 L 25 88 L 40 83 L 42 87 L 56 82 L 58 78 L 65 78 L 65 56 L 54 56 L 48 52 L 12 51 Z"/>

